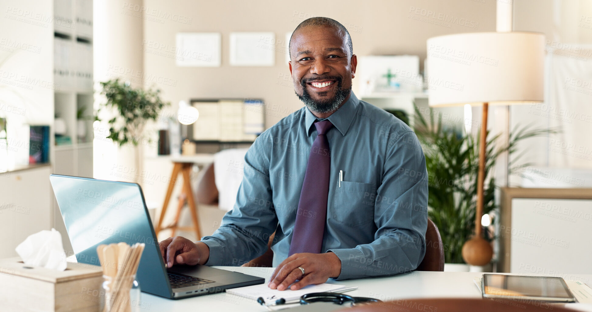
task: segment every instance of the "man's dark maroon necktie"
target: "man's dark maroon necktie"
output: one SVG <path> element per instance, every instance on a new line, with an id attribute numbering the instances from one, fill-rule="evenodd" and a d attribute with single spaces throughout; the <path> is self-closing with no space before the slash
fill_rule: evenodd
<path id="1" fill-rule="evenodd" d="M 288 256 L 301 252 L 320 253 L 323 245 L 331 169 L 329 140 L 325 134 L 333 124 L 324 120 L 318 121 L 314 126 L 318 134 L 308 156 Z"/>

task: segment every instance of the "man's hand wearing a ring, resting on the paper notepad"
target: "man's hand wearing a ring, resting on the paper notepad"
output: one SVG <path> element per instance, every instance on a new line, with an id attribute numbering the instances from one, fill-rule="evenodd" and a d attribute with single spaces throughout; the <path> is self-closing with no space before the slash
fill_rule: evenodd
<path id="1" fill-rule="evenodd" d="M 302 271 L 304 269 L 304 277 Z M 299 290 L 310 284 L 322 284 L 330 277 L 341 274 L 341 260 L 332 252 L 327 253 L 294 253 L 275 268 L 269 279 L 272 290 L 287 290 L 297 279 L 299 282 L 290 287 Z"/>

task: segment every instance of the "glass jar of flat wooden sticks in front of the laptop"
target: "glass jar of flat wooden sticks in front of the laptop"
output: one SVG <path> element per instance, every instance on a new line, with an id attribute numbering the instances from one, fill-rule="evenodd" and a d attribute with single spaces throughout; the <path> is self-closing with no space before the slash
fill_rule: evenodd
<path id="1" fill-rule="evenodd" d="M 140 311 L 141 294 L 136 272 L 143 251 L 143 243 L 133 246 L 118 243 L 96 247 L 104 278 L 101 292 L 102 312 Z"/>

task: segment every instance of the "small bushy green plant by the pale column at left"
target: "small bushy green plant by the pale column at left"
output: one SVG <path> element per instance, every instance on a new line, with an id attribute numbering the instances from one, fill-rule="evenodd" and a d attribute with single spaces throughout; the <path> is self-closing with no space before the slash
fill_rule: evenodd
<path id="1" fill-rule="evenodd" d="M 149 121 L 156 121 L 160 111 L 170 105 L 160 99 L 160 90 L 133 88 L 129 82 L 119 78 L 101 82 L 101 94 L 107 101 L 101 104 L 99 112 L 111 110 L 114 117 L 107 120 L 109 135 L 118 146 L 134 147 L 136 166 L 140 164 L 140 143 L 150 143 L 152 139 L 144 129 Z M 141 172 L 141 170 L 139 170 Z"/>

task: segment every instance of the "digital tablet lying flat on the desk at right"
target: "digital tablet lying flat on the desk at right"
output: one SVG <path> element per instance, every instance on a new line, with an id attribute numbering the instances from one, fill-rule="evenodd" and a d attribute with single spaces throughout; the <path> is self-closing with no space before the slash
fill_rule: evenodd
<path id="1" fill-rule="evenodd" d="M 574 303 L 574 295 L 560 277 L 483 274 L 483 298 Z"/>

